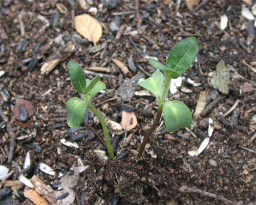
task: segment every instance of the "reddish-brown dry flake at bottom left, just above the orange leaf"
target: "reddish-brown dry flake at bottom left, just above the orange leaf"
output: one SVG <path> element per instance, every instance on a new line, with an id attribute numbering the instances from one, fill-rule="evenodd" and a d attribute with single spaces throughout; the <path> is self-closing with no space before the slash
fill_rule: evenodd
<path id="1" fill-rule="evenodd" d="M 44 196 L 50 204 L 56 204 L 55 191 L 50 186 L 44 184 L 36 175 L 31 178 L 31 183 L 38 194 Z"/>

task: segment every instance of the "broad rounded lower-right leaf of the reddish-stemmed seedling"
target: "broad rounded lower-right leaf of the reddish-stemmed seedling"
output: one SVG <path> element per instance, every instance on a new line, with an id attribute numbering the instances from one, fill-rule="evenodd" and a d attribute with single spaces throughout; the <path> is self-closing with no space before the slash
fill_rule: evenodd
<path id="1" fill-rule="evenodd" d="M 189 109 L 178 100 L 164 102 L 163 119 L 167 132 L 175 132 L 177 129 L 189 127 L 192 124 Z"/>

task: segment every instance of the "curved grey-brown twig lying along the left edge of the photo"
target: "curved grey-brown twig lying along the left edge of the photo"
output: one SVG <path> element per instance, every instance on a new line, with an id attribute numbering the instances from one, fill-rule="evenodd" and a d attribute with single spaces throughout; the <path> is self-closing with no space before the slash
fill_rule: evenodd
<path id="1" fill-rule="evenodd" d="M 13 157 L 13 151 L 14 151 L 14 147 L 15 147 L 15 134 L 13 133 L 12 127 L 8 121 L 8 117 L 5 116 L 2 108 L 0 107 L 0 116 L 1 118 L 5 121 L 6 123 L 6 130 L 9 134 L 9 138 L 10 138 L 10 147 L 9 147 L 9 153 L 8 153 L 8 163 L 12 162 L 12 157 Z"/>

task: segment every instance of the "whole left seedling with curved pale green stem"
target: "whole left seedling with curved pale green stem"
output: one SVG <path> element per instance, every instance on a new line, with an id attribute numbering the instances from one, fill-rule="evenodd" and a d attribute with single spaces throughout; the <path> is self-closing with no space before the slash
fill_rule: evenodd
<path id="1" fill-rule="evenodd" d="M 86 79 L 86 75 L 84 75 L 82 67 L 76 62 L 69 62 L 68 71 L 75 90 L 83 96 L 83 100 L 80 98 L 71 98 L 66 103 L 66 109 L 68 112 L 68 125 L 71 128 L 80 125 L 83 120 L 84 112 L 86 112 L 87 107 L 89 107 L 99 118 L 103 128 L 106 147 L 109 151 L 110 160 L 113 160 L 114 153 L 111 147 L 108 128 L 106 127 L 106 123 L 101 113 L 91 103 L 91 98 L 101 90 L 106 89 L 106 85 L 99 81 L 99 76 L 96 76 L 92 80 Z"/>

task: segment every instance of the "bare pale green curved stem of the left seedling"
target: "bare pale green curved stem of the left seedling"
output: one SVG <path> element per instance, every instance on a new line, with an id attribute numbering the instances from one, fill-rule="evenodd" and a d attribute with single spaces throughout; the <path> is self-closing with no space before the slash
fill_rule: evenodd
<path id="1" fill-rule="evenodd" d="M 111 146 L 109 132 L 108 132 L 108 127 L 106 127 L 105 120 L 102 117 L 102 115 L 99 112 L 99 110 L 97 110 L 97 108 L 94 107 L 94 105 L 91 102 L 88 103 L 88 107 L 95 113 L 95 115 L 98 117 L 98 119 L 99 119 L 99 121 L 101 123 L 101 126 L 103 128 L 103 132 L 104 132 L 104 136 L 105 136 L 106 147 L 108 148 L 109 155 L 110 155 L 110 160 L 113 160 L 114 153 L 113 153 L 113 149 L 112 149 L 112 146 Z"/>

